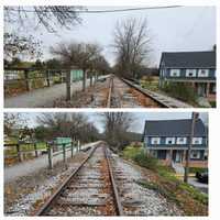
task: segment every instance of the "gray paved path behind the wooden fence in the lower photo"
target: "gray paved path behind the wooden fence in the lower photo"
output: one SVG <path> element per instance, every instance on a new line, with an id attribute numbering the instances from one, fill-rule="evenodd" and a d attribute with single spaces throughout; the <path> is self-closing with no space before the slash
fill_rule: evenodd
<path id="1" fill-rule="evenodd" d="M 82 145 L 81 148 L 87 147 L 87 146 L 94 146 L 98 142 Z M 68 151 L 66 155 L 67 157 L 69 157 L 70 151 Z M 62 160 L 63 160 L 63 154 L 59 154 L 53 158 L 53 164 L 56 164 L 57 162 Z M 38 158 L 23 162 L 11 167 L 6 167 L 4 168 L 4 184 L 11 180 L 14 180 L 18 177 L 26 176 L 31 173 L 37 172 L 41 168 L 46 168 L 47 166 L 48 166 L 48 157 L 47 155 L 42 155 Z"/>

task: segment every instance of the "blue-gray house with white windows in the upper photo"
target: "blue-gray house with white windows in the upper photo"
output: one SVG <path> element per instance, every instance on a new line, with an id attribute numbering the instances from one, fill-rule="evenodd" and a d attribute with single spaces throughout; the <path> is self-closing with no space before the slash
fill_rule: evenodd
<path id="1" fill-rule="evenodd" d="M 199 97 L 216 100 L 216 51 L 162 53 L 160 86 L 188 82 Z"/>

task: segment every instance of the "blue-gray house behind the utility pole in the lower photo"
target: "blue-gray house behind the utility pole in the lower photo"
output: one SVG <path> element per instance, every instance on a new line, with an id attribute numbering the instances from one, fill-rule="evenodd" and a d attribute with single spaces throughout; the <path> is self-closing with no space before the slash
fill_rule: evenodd
<path id="1" fill-rule="evenodd" d="M 143 133 L 144 147 L 152 156 L 164 164 L 186 162 L 190 140 L 191 120 L 145 121 Z M 207 167 L 207 129 L 200 119 L 195 124 L 195 135 L 190 152 L 190 166 Z"/>

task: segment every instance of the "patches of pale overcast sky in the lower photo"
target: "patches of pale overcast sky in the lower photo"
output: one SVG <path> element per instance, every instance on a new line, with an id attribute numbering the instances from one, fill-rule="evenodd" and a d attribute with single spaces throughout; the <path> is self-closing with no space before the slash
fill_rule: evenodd
<path id="1" fill-rule="evenodd" d="M 26 123 L 30 128 L 37 125 L 36 117 L 40 113 L 22 113 L 22 118 L 26 119 Z M 94 122 L 97 129 L 102 132 L 103 127 L 101 123 L 101 118 L 98 113 L 85 112 L 89 121 Z M 190 119 L 191 112 L 133 112 L 134 123 L 131 131 L 143 133 L 145 120 L 174 120 L 174 119 Z M 200 118 L 208 124 L 208 113 L 200 112 Z"/>

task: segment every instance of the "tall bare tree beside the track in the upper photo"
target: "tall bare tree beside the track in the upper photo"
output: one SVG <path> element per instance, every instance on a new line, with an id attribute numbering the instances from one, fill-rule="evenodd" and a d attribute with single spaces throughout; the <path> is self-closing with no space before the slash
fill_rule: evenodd
<path id="1" fill-rule="evenodd" d="M 146 19 L 118 22 L 113 47 L 119 74 L 135 77 L 136 69 L 150 62 L 151 37 Z"/>

